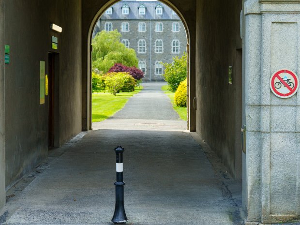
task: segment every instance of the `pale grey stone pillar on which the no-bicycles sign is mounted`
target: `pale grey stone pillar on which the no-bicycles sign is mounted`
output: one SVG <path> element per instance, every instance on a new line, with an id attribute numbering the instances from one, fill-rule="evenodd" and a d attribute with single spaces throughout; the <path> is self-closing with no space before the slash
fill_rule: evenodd
<path id="1" fill-rule="evenodd" d="M 270 90 L 279 69 L 300 75 L 300 0 L 246 0 L 246 225 L 300 218 L 300 92 Z"/>

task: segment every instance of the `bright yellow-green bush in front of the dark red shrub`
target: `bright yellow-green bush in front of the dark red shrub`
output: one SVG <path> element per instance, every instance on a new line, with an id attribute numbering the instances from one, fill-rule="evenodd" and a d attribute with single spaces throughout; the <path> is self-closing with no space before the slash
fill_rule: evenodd
<path id="1" fill-rule="evenodd" d="M 119 72 L 119 73 L 107 73 L 105 74 L 105 86 L 106 89 L 116 95 L 122 90 L 122 88 L 126 88 L 125 84 L 128 86 L 127 89 L 130 89 L 131 81 L 130 78 L 132 76 L 129 73 Z"/>

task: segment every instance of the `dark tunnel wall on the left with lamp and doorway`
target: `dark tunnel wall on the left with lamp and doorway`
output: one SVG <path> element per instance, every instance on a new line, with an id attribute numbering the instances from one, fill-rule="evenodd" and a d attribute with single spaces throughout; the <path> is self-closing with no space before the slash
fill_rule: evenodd
<path id="1" fill-rule="evenodd" d="M 81 0 L 5 0 L 4 4 L 4 42 L 10 45 L 10 64 L 5 65 L 9 188 L 47 156 L 49 99 L 45 96 L 45 104 L 40 105 L 39 76 L 41 60 L 45 74 L 49 72 L 48 52 L 60 55 L 56 146 L 81 131 Z M 62 27 L 62 33 L 50 30 L 51 23 Z M 58 37 L 58 50 L 51 48 L 52 35 Z"/>

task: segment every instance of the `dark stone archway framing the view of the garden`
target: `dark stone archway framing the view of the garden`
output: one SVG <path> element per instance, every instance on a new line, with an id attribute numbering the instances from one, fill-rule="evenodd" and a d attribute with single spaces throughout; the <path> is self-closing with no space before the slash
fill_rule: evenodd
<path id="1" fill-rule="evenodd" d="M 99 3 L 92 3 L 93 5 L 98 5 L 97 8 L 93 7 L 92 12 L 90 12 L 89 20 L 85 21 L 85 17 L 83 17 L 83 40 L 82 40 L 82 50 L 83 50 L 83 58 L 82 58 L 82 128 L 83 130 L 91 129 L 91 36 L 94 26 L 98 20 L 98 18 L 105 12 L 105 10 L 118 2 L 119 0 L 109 0 L 103 3 L 103 1 L 98 0 Z M 193 102 L 195 97 L 195 62 L 191 63 L 191 60 L 195 59 L 193 55 L 195 55 L 195 47 L 191 52 L 191 46 L 195 42 L 195 38 L 191 36 L 191 32 L 189 27 L 189 22 L 184 18 L 184 14 L 180 12 L 179 8 L 173 4 L 169 0 L 162 0 L 163 3 L 172 8 L 179 16 L 185 27 L 186 35 L 187 35 L 187 52 L 188 52 L 188 129 L 191 132 L 195 132 L 195 110 L 190 107 L 190 103 Z M 89 3 L 88 3 L 89 4 Z M 84 11 L 84 7 L 83 7 Z M 194 21 L 195 22 L 195 21 Z M 192 65 L 192 66 L 191 66 Z"/>

